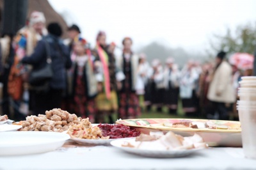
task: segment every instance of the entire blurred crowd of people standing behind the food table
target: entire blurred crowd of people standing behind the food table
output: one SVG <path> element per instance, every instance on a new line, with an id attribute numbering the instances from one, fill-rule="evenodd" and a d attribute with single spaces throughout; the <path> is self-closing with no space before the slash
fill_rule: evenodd
<path id="1" fill-rule="evenodd" d="M 177 114 L 181 101 L 187 116 L 228 120 L 228 112 L 236 112 L 239 77 L 250 75 L 230 65 L 223 51 L 215 63 L 188 61 L 180 69 L 173 58 L 163 65 L 134 54 L 129 37 L 122 40 L 122 56 L 115 56 L 116 45 L 106 42 L 104 31 L 97 34 L 95 47 L 76 25 L 68 27 L 68 39 L 62 40 L 61 34 L 58 23 L 46 28 L 44 13 L 33 12 L 29 24 L 6 39 L 12 44 L 8 52 L 5 39 L 0 41 L 3 97 L 12 99 L 13 119 L 61 108 L 93 123 L 106 117 L 113 123 L 113 113 L 121 119 L 140 116 L 143 96 L 145 111 L 154 105 L 158 112 L 168 107 L 170 114 Z M 3 107 L 6 113 L 8 109 Z"/>

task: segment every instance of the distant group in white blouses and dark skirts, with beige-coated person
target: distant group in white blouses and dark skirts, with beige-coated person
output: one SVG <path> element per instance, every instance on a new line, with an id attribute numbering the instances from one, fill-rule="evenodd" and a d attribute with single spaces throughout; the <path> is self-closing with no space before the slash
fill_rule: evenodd
<path id="1" fill-rule="evenodd" d="M 202 65 L 188 61 L 182 69 L 174 59 L 167 58 L 166 65 L 158 59 L 152 61 L 152 72 L 145 81 L 147 110 L 156 105 L 161 112 L 168 107 L 170 114 L 177 114 L 179 101 L 186 116 L 207 119 L 238 119 L 236 111 L 237 90 L 242 76 L 252 75 L 252 69 L 241 71 L 228 63 L 226 53 L 216 55 L 215 62 Z"/>

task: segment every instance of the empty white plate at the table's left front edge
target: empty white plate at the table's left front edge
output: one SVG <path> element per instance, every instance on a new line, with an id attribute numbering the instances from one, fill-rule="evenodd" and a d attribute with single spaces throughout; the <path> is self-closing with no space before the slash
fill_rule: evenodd
<path id="1" fill-rule="evenodd" d="M 3 132 L 0 133 L 0 156 L 44 153 L 60 148 L 68 134 L 58 132 Z"/>

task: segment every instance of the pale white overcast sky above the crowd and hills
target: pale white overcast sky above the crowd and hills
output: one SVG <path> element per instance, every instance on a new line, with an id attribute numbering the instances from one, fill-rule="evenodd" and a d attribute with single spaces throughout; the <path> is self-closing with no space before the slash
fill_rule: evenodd
<path id="1" fill-rule="evenodd" d="M 65 14 L 68 24 L 81 27 L 82 35 L 95 44 L 99 30 L 107 41 L 121 45 L 131 36 L 134 48 L 152 41 L 170 47 L 202 51 L 212 33 L 225 27 L 255 22 L 254 0 L 49 0 Z M 67 15 L 68 14 L 68 15 Z"/>

